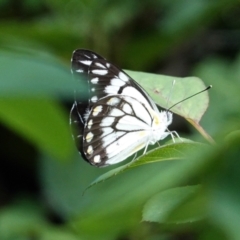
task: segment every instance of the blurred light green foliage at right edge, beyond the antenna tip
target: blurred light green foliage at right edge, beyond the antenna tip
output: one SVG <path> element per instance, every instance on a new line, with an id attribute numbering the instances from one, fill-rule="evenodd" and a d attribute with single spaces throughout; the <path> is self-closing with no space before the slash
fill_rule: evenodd
<path id="1" fill-rule="evenodd" d="M 212 84 L 211 104 L 201 121 L 202 126 L 211 134 L 218 134 L 232 127 L 237 129 L 236 119 L 240 118 L 240 55 L 234 62 L 221 58 L 207 58 L 196 66 L 193 74 Z M 238 121 L 239 122 L 239 121 Z M 221 131 L 220 131 L 221 130 Z"/>

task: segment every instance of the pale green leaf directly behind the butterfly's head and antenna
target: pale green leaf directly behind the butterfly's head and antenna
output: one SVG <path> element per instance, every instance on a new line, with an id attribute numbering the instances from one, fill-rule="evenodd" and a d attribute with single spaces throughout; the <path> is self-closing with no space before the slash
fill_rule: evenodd
<path id="1" fill-rule="evenodd" d="M 143 72 L 127 72 L 163 108 L 169 108 L 173 104 L 206 88 L 203 81 L 197 77 L 177 78 Z M 175 80 L 175 85 L 172 89 L 173 80 Z M 173 92 L 170 95 L 171 89 Z M 206 91 L 176 105 L 171 108 L 171 111 L 184 118 L 199 122 L 208 107 L 208 103 L 209 97 Z"/>

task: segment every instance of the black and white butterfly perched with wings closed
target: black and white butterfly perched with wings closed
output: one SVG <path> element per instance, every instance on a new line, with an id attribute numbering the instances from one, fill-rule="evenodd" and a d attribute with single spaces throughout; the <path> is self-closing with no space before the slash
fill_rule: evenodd
<path id="1" fill-rule="evenodd" d="M 96 167 L 124 161 L 173 133 L 172 113 L 159 111 L 146 91 L 99 54 L 77 49 L 72 73 L 78 81 L 70 125 L 82 158 Z"/>

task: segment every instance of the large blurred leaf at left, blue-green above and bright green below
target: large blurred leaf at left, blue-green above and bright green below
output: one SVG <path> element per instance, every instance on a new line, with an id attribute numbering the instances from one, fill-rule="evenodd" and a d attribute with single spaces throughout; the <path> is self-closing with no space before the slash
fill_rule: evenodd
<path id="1" fill-rule="evenodd" d="M 0 65 L 0 120 L 40 150 L 69 158 L 69 117 L 56 98 L 72 97 L 70 71 L 51 55 L 26 49 L 2 51 Z"/>

